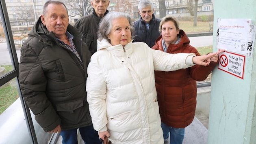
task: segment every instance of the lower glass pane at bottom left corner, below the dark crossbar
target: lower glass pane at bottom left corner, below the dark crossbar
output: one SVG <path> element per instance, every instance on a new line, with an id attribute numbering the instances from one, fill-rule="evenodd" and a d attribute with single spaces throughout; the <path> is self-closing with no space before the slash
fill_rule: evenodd
<path id="1" fill-rule="evenodd" d="M 0 97 L 0 144 L 32 144 L 15 79 L 0 87 Z"/>

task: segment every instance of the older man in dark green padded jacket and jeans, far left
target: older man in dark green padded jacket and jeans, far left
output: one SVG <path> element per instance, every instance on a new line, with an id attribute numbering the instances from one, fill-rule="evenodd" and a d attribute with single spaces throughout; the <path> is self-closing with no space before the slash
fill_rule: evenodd
<path id="1" fill-rule="evenodd" d="M 93 129 L 85 91 L 91 53 L 81 32 L 68 24 L 61 1 L 49 0 L 23 43 L 20 87 L 24 100 L 46 132 L 59 132 L 63 144 L 100 144 Z"/>

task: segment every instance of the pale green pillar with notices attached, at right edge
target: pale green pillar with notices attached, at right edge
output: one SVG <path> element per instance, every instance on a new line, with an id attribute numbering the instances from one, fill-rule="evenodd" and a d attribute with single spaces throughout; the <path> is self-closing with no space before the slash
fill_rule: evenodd
<path id="1" fill-rule="evenodd" d="M 217 19 L 252 19 L 254 0 L 215 0 L 213 47 Z M 225 49 L 225 48 L 223 48 Z M 212 75 L 208 144 L 256 144 L 256 48 L 245 57 L 244 78 L 215 68 Z"/>

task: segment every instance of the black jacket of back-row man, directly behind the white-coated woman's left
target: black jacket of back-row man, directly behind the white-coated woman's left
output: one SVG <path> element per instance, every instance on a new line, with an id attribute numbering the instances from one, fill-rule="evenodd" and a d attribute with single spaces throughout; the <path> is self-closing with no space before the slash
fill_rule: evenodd
<path id="1" fill-rule="evenodd" d="M 104 13 L 104 16 L 108 13 Z M 95 13 L 93 9 L 93 13 L 91 15 L 86 15 L 81 19 L 78 19 L 75 23 L 75 27 L 82 32 L 85 43 L 89 48 L 89 51 L 93 54 L 97 51 L 97 39 L 98 39 L 98 29 L 100 23 L 100 17 Z"/>

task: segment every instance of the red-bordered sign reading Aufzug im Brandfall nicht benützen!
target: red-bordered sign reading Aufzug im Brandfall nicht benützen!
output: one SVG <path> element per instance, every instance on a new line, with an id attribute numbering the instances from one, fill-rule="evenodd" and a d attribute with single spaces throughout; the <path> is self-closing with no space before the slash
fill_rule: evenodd
<path id="1" fill-rule="evenodd" d="M 245 56 L 225 51 L 219 55 L 218 69 L 243 79 Z"/>

